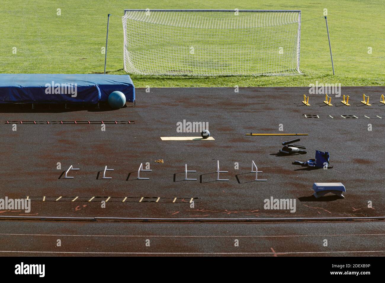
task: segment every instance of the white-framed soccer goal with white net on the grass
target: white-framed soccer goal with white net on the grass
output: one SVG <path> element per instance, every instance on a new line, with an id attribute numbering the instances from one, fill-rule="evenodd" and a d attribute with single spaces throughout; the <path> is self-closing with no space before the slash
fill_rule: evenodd
<path id="1" fill-rule="evenodd" d="M 124 11 L 124 70 L 128 73 L 301 73 L 300 10 Z"/>

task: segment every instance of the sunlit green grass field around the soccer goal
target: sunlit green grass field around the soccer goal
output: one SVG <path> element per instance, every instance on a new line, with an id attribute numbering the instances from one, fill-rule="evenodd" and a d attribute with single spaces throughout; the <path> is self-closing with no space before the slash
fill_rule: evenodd
<path id="1" fill-rule="evenodd" d="M 283 2 L 283 3 L 282 3 Z M 102 73 L 107 14 L 107 72 L 123 70 L 125 8 L 302 10 L 301 71 L 295 76 L 166 77 L 131 75 L 136 87 L 343 86 L 385 85 L 385 5 L 382 0 L 243 0 L 75 1 L 2 0 L 0 73 Z M 328 24 L 336 75 L 332 75 L 323 9 Z M 57 15 L 60 9 L 61 15 Z M 372 54 L 368 54 L 368 48 Z"/>

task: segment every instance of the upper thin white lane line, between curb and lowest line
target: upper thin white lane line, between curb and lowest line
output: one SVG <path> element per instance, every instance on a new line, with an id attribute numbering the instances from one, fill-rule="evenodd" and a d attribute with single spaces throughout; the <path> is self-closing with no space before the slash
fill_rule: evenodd
<path id="1" fill-rule="evenodd" d="M 218 235 L 192 235 L 192 236 L 180 236 L 180 235 L 73 235 L 73 234 L 11 234 L 0 233 L 5 236 L 67 236 L 67 237 L 158 237 L 158 238 L 267 238 L 267 237 L 317 237 L 317 236 L 385 236 L 385 234 L 316 234 L 316 235 L 233 235 L 233 236 L 218 236 Z"/>

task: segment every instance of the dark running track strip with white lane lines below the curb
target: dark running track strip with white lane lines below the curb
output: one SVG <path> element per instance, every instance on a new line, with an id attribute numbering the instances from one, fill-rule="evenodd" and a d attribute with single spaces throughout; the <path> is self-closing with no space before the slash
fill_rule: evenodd
<path id="1" fill-rule="evenodd" d="M 0 256 L 384 256 L 385 221 L 0 221 Z M 57 240 L 61 246 L 57 247 Z M 150 246 L 146 246 L 146 240 Z M 234 246 L 238 239 L 239 246 Z M 327 246 L 323 246 L 324 240 Z"/>

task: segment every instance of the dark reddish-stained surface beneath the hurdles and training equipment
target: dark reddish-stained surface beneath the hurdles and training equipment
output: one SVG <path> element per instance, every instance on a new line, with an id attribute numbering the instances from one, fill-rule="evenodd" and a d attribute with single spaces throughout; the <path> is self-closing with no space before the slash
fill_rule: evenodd
<path id="1" fill-rule="evenodd" d="M 135 121 L 106 125 L 17 125 L 1 124 L 2 161 L 0 197 L 32 199 L 31 213 L 2 211 L 1 215 L 149 218 L 283 218 L 383 216 L 385 214 L 384 169 L 385 105 L 378 101 L 384 87 L 345 87 L 352 106 L 323 106 L 325 95 L 311 95 L 310 107 L 301 104 L 308 88 L 190 88 L 137 89 L 136 107 L 117 111 L 94 109 L 7 110 L 0 106 L 4 121 Z M 362 93 L 370 95 L 372 107 L 360 104 Z M 357 104 L 356 104 L 357 103 Z M 130 105 L 131 106 L 131 105 Z M 356 115 L 360 119 L 304 118 L 303 114 Z M 383 119 L 363 116 L 379 115 Z M 177 133 L 176 123 L 209 122 L 215 141 L 161 141 L 161 136 L 198 136 Z M 368 124 L 373 131 L 368 131 Z M 308 154 L 276 156 L 281 142 L 295 137 L 250 137 L 249 132 L 308 133 L 300 137 Z M 333 169 L 309 170 L 292 165 L 295 160 L 314 158 L 315 150 L 329 151 Z M 164 159 L 164 164 L 154 163 Z M 216 161 L 229 182 L 216 180 Z M 253 182 L 251 161 L 267 182 Z M 61 170 L 56 169 L 61 162 Z M 150 180 L 136 180 L 141 163 L 150 162 Z M 239 170 L 234 169 L 239 162 Z M 184 164 L 190 178 L 183 181 Z M 70 165 L 74 179 L 63 179 Z M 107 165 L 110 180 L 102 180 Z M 175 175 L 174 175 L 175 174 Z M 60 177 L 60 179 L 59 179 Z M 174 179 L 175 178 L 175 179 Z M 175 180 L 175 181 L 174 181 Z M 341 182 L 345 199 L 325 196 L 316 200 L 314 182 Z M 43 202 L 43 196 L 46 201 Z M 59 196 L 68 196 L 54 201 Z M 76 196 L 79 198 L 71 202 Z M 95 198 L 88 202 L 92 196 Z M 130 197 L 122 203 L 124 197 Z M 296 199 L 296 212 L 263 209 L 264 199 Z M 100 201 L 111 197 L 106 208 Z M 142 202 L 151 197 L 159 202 Z M 176 203 L 172 203 L 178 198 Z M 190 208 L 190 198 L 195 199 Z M 146 199 L 144 199 L 146 200 Z M 147 199 L 148 200 L 148 199 Z M 367 208 L 372 201 L 373 208 Z"/>

